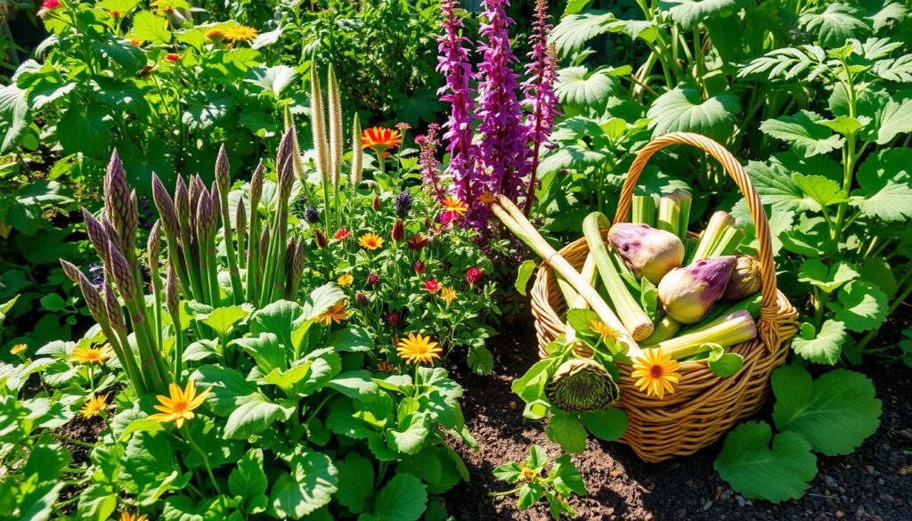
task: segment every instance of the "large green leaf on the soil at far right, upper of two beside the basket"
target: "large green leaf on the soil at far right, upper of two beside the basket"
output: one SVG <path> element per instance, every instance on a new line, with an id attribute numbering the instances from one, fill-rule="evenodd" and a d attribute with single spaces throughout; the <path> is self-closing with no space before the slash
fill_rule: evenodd
<path id="1" fill-rule="evenodd" d="M 802 367 L 785 366 L 772 372 L 772 391 L 776 428 L 828 456 L 852 453 L 880 424 L 874 384 L 855 371 L 831 370 L 812 382 Z"/>

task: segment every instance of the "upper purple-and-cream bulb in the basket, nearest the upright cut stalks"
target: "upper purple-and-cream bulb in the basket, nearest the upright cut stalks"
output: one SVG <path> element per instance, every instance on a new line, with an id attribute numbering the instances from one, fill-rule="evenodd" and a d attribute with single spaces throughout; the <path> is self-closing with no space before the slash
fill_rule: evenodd
<path id="1" fill-rule="evenodd" d="M 684 244 L 677 235 L 646 224 L 615 224 L 608 241 L 636 276 L 653 284 L 684 260 Z"/>

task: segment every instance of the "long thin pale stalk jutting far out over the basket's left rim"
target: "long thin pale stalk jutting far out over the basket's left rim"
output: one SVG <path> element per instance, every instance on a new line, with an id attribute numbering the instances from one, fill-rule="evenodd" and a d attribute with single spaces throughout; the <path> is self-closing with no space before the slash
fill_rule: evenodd
<path id="1" fill-rule="evenodd" d="M 544 237 L 535 230 L 523 212 L 512 201 L 503 195 L 498 195 L 497 200 L 498 203 L 494 203 L 491 206 L 494 215 L 525 245 L 528 245 L 536 255 L 542 257 L 548 266 L 554 269 L 556 274 L 563 276 L 574 287 L 576 292 L 586 299 L 586 302 L 589 303 L 589 306 L 592 307 L 602 322 L 620 332 L 617 341 L 627 348 L 629 356 L 637 357 L 642 355 L 642 349 L 639 348 L 637 340 L 633 339 L 630 333 L 627 332 L 624 324 L 617 318 L 611 307 L 598 295 L 596 288 L 592 287 L 551 245 L 548 245 Z"/>

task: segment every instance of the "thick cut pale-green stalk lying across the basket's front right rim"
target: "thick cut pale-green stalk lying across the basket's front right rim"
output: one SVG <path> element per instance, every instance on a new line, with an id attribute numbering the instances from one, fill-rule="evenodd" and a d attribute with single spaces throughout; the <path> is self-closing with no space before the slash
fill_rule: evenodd
<path id="1" fill-rule="evenodd" d="M 710 350 L 709 344 L 719 344 L 727 348 L 756 336 L 757 325 L 751 314 L 742 309 L 717 318 L 715 323 L 708 327 L 657 344 L 643 346 L 643 349 L 662 349 L 673 359 L 685 359 Z"/>

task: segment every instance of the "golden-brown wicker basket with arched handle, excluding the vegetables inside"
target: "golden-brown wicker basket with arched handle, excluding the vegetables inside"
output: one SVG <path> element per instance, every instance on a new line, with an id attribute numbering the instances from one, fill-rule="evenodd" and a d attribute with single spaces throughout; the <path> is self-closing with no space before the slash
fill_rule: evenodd
<path id="1" fill-rule="evenodd" d="M 747 200 L 759 243 L 762 308 L 758 320 L 759 337 L 731 349 L 744 357 L 744 366 L 729 378 L 715 376 L 705 359 L 681 362 L 681 381 L 676 391 L 659 400 L 638 391 L 630 378 L 631 368 L 623 364 L 620 366 L 621 398 L 618 405 L 627 412 L 629 420 L 627 432 L 620 441 L 630 445 L 641 459 L 653 463 L 695 453 L 718 440 L 735 422 L 757 412 L 769 391 L 770 373 L 785 361 L 788 340 L 798 324 L 798 313 L 776 289 L 770 227 L 760 197 L 741 163 L 716 141 L 699 134 L 675 132 L 650 142 L 639 152 L 627 172 L 627 181 L 617 203 L 615 223 L 627 219 L 637 178 L 649 158 L 660 149 L 679 143 L 700 148 L 716 158 Z M 580 269 L 588 254 L 586 239 L 565 246 L 560 253 L 571 265 Z M 551 268 L 541 266 L 532 289 L 532 310 L 540 355 L 544 356 L 544 346 L 565 332 L 565 323 L 561 320 L 565 309 L 564 298 Z"/>

